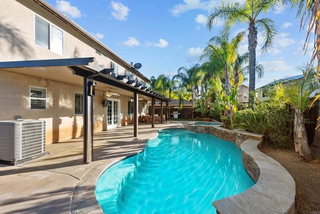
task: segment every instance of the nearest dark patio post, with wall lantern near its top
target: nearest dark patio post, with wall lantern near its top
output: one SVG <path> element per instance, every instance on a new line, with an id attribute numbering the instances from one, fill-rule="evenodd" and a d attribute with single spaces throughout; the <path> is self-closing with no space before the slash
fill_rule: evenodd
<path id="1" fill-rule="evenodd" d="M 93 90 L 93 91 L 92 91 Z M 83 163 L 93 161 L 93 79 L 83 78 Z"/>

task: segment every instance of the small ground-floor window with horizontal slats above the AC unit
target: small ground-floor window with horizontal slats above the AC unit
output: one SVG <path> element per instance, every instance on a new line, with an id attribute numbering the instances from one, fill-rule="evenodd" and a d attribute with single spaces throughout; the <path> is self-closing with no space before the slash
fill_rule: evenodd
<path id="1" fill-rule="evenodd" d="M 46 109 L 46 89 L 30 87 L 30 109 Z"/>

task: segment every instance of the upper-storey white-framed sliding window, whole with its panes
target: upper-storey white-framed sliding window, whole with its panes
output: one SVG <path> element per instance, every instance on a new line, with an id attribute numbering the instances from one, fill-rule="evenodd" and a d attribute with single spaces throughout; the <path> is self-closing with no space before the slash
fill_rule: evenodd
<path id="1" fill-rule="evenodd" d="M 37 16 L 34 16 L 34 43 L 63 55 L 63 32 Z"/>

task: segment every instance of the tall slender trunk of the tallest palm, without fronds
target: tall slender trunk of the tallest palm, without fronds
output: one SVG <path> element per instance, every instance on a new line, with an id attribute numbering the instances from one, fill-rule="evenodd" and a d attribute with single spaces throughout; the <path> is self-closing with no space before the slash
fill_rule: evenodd
<path id="1" fill-rule="evenodd" d="M 257 30 L 254 22 L 250 21 L 248 35 L 248 51 L 249 51 L 249 105 L 252 106 L 254 102 L 255 89 L 255 48 L 257 45 Z"/>

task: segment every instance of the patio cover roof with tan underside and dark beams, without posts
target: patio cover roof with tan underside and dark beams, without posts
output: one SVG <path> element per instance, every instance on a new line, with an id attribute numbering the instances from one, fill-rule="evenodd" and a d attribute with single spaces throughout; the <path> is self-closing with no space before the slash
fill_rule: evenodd
<path id="1" fill-rule="evenodd" d="M 28 75 L 47 80 L 67 83 L 83 87 L 83 77 L 91 75 L 97 82 L 95 89 L 132 97 L 134 92 L 139 98 L 145 100 L 162 100 L 169 102 L 169 99 L 159 94 L 151 94 L 145 90 L 117 80 L 109 74 L 102 74 L 104 68 L 93 64 L 94 58 L 72 58 L 55 60 L 33 60 L 0 62 L 0 69 L 8 72 Z"/>

